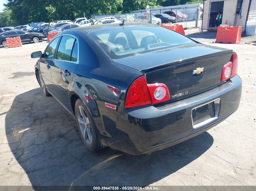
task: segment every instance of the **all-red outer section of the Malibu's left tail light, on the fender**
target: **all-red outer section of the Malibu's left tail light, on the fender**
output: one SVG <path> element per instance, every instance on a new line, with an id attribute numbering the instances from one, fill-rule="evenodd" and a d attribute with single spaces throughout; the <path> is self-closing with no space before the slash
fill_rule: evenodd
<path id="1" fill-rule="evenodd" d="M 145 76 L 137 78 L 128 89 L 125 108 L 151 104 Z"/>

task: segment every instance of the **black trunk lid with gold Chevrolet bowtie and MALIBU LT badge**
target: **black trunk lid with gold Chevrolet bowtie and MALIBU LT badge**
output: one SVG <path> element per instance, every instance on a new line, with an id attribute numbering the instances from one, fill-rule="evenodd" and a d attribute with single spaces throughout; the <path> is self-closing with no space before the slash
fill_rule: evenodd
<path id="1" fill-rule="evenodd" d="M 143 72 L 148 84 L 166 84 L 171 99 L 160 103 L 165 104 L 222 84 L 221 71 L 231 60 L 232 52 L 228 49 L 196 44 L 115 61 Z"/>

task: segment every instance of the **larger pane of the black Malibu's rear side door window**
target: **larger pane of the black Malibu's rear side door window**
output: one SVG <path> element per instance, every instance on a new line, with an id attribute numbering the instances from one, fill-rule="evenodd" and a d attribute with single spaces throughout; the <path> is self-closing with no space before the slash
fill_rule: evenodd
<path id="1" fill-rule="evenodd" d="M 71 60 L 71 53 L 76 39 L 71 36 L 63 36 L 59 44 L 57 58 L 59 60 Z"/>

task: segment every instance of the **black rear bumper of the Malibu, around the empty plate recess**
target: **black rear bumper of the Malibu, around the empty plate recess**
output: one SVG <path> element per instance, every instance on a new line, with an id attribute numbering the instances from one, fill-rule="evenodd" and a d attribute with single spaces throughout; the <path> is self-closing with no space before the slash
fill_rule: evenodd
<path id="1" fill-rule="evenodd" d="M 240 103 L 241 89 L 241 78 L 235 75 L 217 88 L 162 107 L 110 109 L 112 116 L 114 113 L 111 110 L 115 112 L 116 120 L 109 123 L 103 119 L 105 133 L 100 133 L 101 142 L 130 154 L 151 153 L 178 144 L 201 134 L 234 113 Z M 191 110 L 218 98 L 221 100 L 218 119 L 193 129 Z M 108 136 L 104 136 L 106 134 Z"/>

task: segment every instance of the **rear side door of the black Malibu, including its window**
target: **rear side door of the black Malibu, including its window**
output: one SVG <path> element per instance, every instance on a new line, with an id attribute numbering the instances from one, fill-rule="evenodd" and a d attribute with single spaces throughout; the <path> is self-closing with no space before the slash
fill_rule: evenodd
<path id="1" fill-rule="evenodd" d="M 51 66 L 54 90 L 52 94 L 71 112 L 68 100 L 70 87 L 75 69 L 78 65 L 78 39 L 69 34 L 62 35 L 56 58 Z"/>

